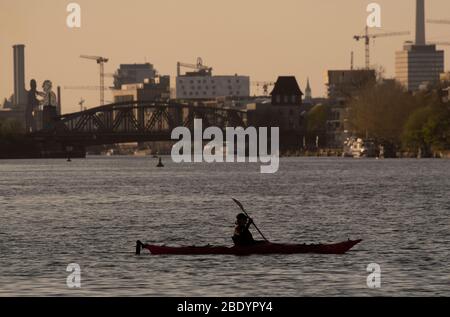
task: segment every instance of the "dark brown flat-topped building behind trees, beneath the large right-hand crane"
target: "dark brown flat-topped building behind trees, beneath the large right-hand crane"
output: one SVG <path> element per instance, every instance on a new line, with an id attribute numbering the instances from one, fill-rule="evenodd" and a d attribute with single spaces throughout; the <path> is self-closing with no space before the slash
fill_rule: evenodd
<path id="1" fill-rule="evenodd" d="M 373 69 L 330 70 L 327 73 L 328 98 L 344 104 L 362 88 L 376 82 Z"/>

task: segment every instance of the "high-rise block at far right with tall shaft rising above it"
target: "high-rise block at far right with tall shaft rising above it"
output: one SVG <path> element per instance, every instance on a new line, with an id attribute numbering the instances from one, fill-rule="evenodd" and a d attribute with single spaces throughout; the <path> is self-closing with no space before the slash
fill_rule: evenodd
<path id="1" fill-rule="evenodd" d="M 395 55 L 395 77 L 408 91 L 439 82 L 444 72 L 444 51 L 428 45 L 425 36 L 425 0 L 416 0 L 416 41 L 405 43 Z"/>

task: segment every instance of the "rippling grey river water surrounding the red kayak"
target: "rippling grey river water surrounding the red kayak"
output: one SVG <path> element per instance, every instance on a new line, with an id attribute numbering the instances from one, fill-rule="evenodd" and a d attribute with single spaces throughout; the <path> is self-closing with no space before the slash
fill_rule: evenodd
<path id="1" fill-rule="evenodd" d="M 0 161 L 0 296 L 450 295 L 448 160 L 293 158 L 275 175 L 156 163 Z M 231 197 L 273 241 L 364 242 L 345 256 L 134 255 L 137 239 L 229 245 Z M 381 289 L 366 285 L 370 263 Z"/>

